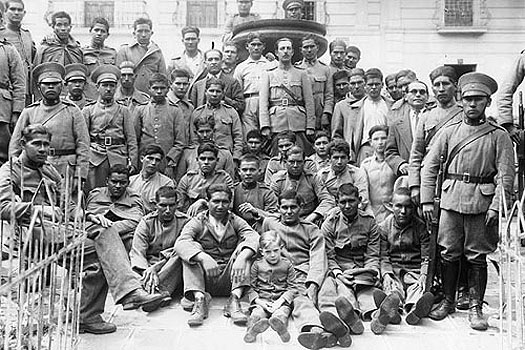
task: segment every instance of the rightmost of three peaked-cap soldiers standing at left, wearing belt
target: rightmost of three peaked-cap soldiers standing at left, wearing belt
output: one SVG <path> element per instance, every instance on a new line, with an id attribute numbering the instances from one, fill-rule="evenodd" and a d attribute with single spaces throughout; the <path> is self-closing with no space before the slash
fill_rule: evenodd
<path id="1" fill-rule="evenodd" d="M 97 84 L 99 98 L 82 110 L 91 141 L 89 189 L 103 186 L 103 179 L 108 177 L 113 165 L 126 166 L 131 173 L 138 167 L 137 137 L 131 114 L 114 99 L 120 70 L 113 65 L 102 65 L 95 69 L 91 79 Z"/>

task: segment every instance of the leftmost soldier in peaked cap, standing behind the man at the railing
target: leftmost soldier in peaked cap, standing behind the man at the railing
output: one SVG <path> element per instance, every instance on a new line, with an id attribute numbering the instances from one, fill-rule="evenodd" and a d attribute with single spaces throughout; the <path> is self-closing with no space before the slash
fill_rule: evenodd
<path id="1" fill-rule="evenodd" d="M 66 176 L 69 165 L 69 176 L 76 178 L 80 175 L 86 180 L 89 169 L 88 130 L 80 109 L 74 103 L 60 99 L 64 74 L 64 67 L 55 62 L 35 67 L 33 77 L 42 100 L 23 110 L 13 131 L 9 152 L 14 156 L 20 154 L 22 130 L 26 126 L 42 124 L 53 134 L 48 161 L 62 176 Z"/>

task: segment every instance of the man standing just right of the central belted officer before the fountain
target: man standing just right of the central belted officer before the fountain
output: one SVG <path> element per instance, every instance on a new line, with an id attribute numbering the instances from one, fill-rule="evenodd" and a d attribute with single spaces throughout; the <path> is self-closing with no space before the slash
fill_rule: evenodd
<path id="1" fill-rule="evenodd" d="M 319 44 L 317 39 L 308 34 L 301 39 L 303 60 L 295 66 L 306 70 L 312 85 L 315 107 L 315 129 L 330 129 L 330 120 L 334 111 L 334 85 L 330 68 L 317 59 Z"/>

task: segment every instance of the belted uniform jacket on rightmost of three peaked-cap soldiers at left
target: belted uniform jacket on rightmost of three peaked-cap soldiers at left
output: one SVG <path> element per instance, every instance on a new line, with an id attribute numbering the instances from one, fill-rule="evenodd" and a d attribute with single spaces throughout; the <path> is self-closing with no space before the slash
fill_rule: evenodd
<path id="1" fill-rule="evenodd" d="M 107 158 L 110 166 L 127 165 L 129 159 L 137 168 L 137 137 L 127 107 L 118 102 L 105 105 L 99 100 L 84 107 L 82 114 L 91 141 L 91 164 L 98 166 Z"/>

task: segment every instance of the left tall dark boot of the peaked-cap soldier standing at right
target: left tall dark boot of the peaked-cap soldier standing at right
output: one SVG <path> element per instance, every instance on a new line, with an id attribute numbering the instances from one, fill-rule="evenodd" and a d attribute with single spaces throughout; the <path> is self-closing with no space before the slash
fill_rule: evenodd
<path id="1" fill-rule="evenodd" d="M 454 313 L 456 300 L 456 286 L 459 275 L 459 261 L 441 260 L 441 278 L 443 279 L 443 292 L 445 298 L 441 300 L 437 309 L 433 310 L 428 317 L 440 321 L 448 314 Z"/>

